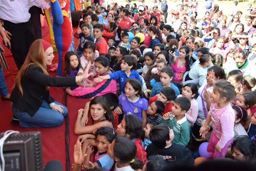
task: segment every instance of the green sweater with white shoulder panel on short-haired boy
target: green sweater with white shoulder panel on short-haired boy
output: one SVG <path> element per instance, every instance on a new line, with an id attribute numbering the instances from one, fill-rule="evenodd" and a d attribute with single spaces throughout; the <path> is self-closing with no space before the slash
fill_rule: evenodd
<path id="1" fill-rule="evenodd" d="M 186 145 L 189 143 L 189 123 L 186 119 L 186 116 L 178 121 L 175 121 L 175 116 L 171 115 L 171 118 L 164 120 L 163 118 L 159 123 L 167 123 L 174 132 L 174 139 L 172 143 Z"/>

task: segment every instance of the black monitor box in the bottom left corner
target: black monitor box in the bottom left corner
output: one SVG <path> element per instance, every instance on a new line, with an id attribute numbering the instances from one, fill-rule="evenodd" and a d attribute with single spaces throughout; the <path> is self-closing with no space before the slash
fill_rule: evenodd
<path id="1" fill-rule="evenodd" d="M 44 171 L 41 133 L 13 133 L 3 144 L 3 157 L 6 171 Z"/>

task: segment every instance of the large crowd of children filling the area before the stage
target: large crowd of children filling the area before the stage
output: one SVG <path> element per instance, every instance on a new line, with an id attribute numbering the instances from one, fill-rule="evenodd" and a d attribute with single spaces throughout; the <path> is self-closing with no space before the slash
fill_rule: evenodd
<path id="1" fill-rule="evenodd" d="M 207 160 L 256 162 L 255 4 L 241 12 L 234 1 L 228 15 L 215 5 L 199 23 L 198 3 L 188 0 L 177 7 L 89 2 L 76 52 L 65 56 L 66 76 L 89 62 L 93 73 L 66 88 L 94 98 L 78 111 L 74 171 L 193 165 L 200 156 L 190 146 L 201 138 Z"/>

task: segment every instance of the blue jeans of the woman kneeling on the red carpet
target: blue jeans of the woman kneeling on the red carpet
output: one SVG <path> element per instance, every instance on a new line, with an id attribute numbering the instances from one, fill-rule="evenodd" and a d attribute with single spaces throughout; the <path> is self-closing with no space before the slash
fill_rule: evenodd
<path id="1" fill-rule="evenodd" d="M 11 107 L 13 114 L 20 119 L 21 128 L 56 127 L 62 124 L 64 116 L 67 115 L 67 107 L 57 101 L 54 101 L 54 103 L 64 107 L 63 114 L 52 110 L 46 100 L 43 101 L 41 107 L 32 117 L 26 112 L 17 110 L 13 103 L 11 103 Z"/>

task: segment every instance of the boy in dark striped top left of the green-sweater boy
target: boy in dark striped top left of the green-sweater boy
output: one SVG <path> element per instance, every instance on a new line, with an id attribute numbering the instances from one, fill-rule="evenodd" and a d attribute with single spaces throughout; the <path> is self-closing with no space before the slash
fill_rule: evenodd
<path id="1" fill-rule="evenodd" d="M 148 105 L 147 113 L 147 123 L 148 122 L 160 122 L 162 116 L 160 115 L 164 110 L 164 104 L 162 101 L 154 101 Z"/>

